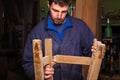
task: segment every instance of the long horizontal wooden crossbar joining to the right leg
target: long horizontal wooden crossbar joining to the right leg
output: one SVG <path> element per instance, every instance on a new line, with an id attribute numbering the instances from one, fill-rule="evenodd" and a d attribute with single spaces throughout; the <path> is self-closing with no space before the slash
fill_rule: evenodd
<path id="1" fill-rule="evenodd" d="M 91 58 L 90 57 L 80 57 L 80 56 L 56 55 L 56 56 L 54 56 L 53 61 L 55 61 L 57 63 L 90 65 Z"/>

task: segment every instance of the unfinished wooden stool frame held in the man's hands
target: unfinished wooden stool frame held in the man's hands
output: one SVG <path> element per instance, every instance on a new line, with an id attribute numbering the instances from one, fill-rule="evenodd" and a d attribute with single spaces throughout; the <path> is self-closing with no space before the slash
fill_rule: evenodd
<path id="1" fill-rule="evenodd" d="M 39 39 L 33 40 L 33 60 L 34 60 L 34 73 L 35 80 L 44 80 L 44 66 L 55 61 L 56 63 L 66 63 L 66 64 L 80 64 L 89 65 L 89 70 L 87 74 L 87 80 L 97 80 L 102 59 L 105 53 L 105 44 L 97 41 L 98 45 L 96 53 L 92 54 L 92 57 L 83 56 L 66 56 L 66 55 L 55 55 L 52 56 L 52 40 L 45 39 L 45 56 L 42 54 L 42 42 Z M 51 77 L 48 80 L 53 80 Z"/>

